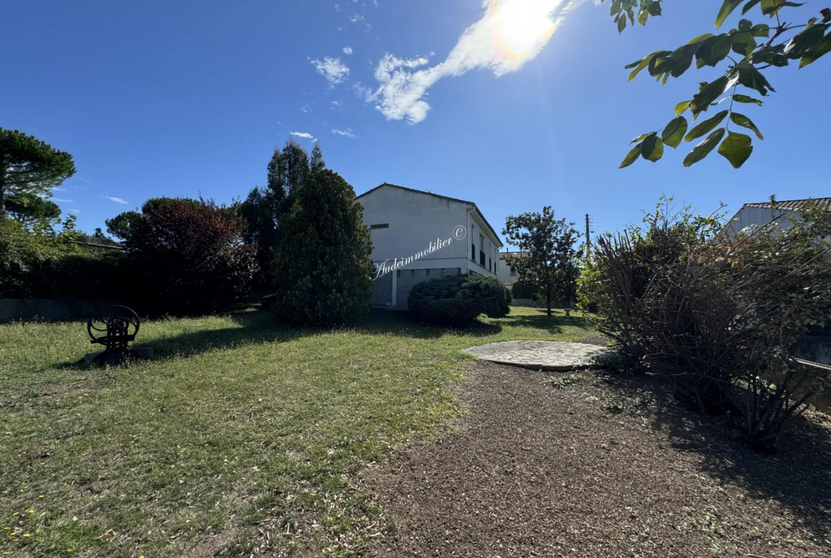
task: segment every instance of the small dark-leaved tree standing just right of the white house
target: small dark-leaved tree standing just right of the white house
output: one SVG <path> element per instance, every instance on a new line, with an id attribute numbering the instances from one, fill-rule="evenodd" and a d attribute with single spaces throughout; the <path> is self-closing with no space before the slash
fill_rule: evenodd
<path id="1" fill-rule="evenodd" d="M 527 252 L 524 258 L 509 254 L 505 264 L 517 269 L 524 284 L 545 299 L 548 317 L 553 300 L 573 300 L 577 294 L 578 258 L 582 253 L 574 249 L 580 234 L 573 223 L 554 219 L 550 206 L 543 213 L 524 213 L 510 216 L 502 231 L 509 244 Z"/>

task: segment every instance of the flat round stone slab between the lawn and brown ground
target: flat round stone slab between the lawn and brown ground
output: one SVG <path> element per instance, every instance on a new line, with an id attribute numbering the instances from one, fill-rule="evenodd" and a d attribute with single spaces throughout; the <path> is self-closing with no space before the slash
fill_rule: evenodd
<path id="1" fill-rule="evenodd" d="M 462 352 L 497 364 L 510 364 L 532 370 L 568 372 L 588 368 L 593 358 L 611 349 L 585 343 L 558 341 L 504 341 L 462 349 Z"/>

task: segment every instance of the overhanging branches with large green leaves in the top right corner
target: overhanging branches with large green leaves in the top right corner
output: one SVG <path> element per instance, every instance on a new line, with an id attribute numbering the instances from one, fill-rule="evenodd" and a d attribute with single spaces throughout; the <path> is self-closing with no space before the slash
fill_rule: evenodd
<path id="1" fill-rule="evenodd" d="M 645 25 L 650 16 L 660 16 L 662 3 L 658 0 L 612 0 L 612 16 L 615 17 L 618 32 L 626 29 L 627 20 L 634 25 L 636 10 L 637 22 L 641 25 Z M 719 155 L 738 169 L 753 152 L 753 139 L 749 134 L 740 133 L 740 128 L 752 131 L 759 140 L 764 137 L 753 121 L 735 111 L 734 107 L 737 104 L 761 106 L 762 101 L 748 93 L 765 97 L 774 91 L 762 71 L 771 67 L 786 67 L 795 61 L 799 61 L 799 67 L 803 68 L 831 51 L 831 9 L 824 8 L 819 12 L 821 20 L 820 17 L 811 17 L 804 24 L 794 25 L 781 19 L 779 13 L 786 7 L 802 6 L 802 3 L 785 0 L 724 0 L 715 17 L 716 29 L 742 3 L 742 15 L 758 6 L 763 17 L 775 19 L 775 25 L 741 19 L 728 32 L 699 35 L 674 51 L 655 51 L 627 66 L 632 69 L 630 81 L 638 73 L 647 70 L 656 81 L 666 84 L 670 77 L 680 77 L 686 72 L 692 66 L 693 59 L 696 61 L 696 69 L 718 67 L 720 62 L 730 61 L 720 76 L 713 81 L 702 81 L 699 91 L 691 99 L 676 105 L 676 117 L 666 126 L 635 138 L 632 143 L 637 145 L 623 159 L 621 168 L 632 165 L 638 157 L 656 162 L 663 156 L 664 146 L 675 149 L 681 145 L 681 141 L 704 137 L 685 157 L 684 166 L 695 165 L 718 147 Z M 743 89 L 739 90 L 740 86 Z M 695 122 L 702 112 L 719 106 L 723 101 L 730 101 L 725 110 L 717 111 L 715 115 L 688 130 L 690 124 L 683 116 L 687 110 Z M 725 126 L 721 126 L 722 123 Z M 733 130 L 730 130 L 731 124 L 735 126 Z"/>

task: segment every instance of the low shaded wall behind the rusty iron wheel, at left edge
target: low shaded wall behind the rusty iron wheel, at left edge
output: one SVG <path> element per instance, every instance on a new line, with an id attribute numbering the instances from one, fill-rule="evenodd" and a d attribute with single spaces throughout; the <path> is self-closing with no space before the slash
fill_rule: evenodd
<path id="1" fill-rule="evenodd" d="M 120 304 L 140 316 L 153 314 L 152 304 L 125 300 L 0 299 L 0 323 L 89 318 Z"/>

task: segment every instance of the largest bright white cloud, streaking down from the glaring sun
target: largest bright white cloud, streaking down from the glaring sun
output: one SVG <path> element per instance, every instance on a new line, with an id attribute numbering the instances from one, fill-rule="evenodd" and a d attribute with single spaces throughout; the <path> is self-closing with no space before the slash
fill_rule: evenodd
<path id="1" fill-rule="evenodd" d="M 445 62 L 424 67 L 430 62 L 425 57 L 404 59 L 387 53 L 375 71 L 380 85 L 365 99 L 375 102 L 387 120 L 417 124 L 427 117 L 430 104 L 424 97 L 436 81 L 481 68 L 496 77 L 518 71 L 548 43 L 563 16 L 583 1 L 484 0 L 484 15 L 465 29 Z"/>

